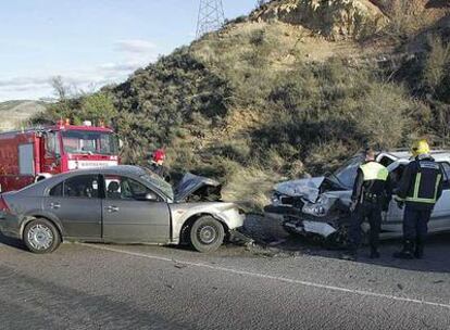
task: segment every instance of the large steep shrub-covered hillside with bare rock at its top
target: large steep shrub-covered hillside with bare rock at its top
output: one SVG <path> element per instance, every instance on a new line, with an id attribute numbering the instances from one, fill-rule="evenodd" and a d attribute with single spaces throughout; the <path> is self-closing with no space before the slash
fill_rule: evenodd
<path id="1" fill-rule="evenodd" d="M 174 172 L 264 204 L 366 144 L 449 143 L 449 36 L 445 1 L 274 0 L 102 92 L 125 160 L 165 147 Z"/>

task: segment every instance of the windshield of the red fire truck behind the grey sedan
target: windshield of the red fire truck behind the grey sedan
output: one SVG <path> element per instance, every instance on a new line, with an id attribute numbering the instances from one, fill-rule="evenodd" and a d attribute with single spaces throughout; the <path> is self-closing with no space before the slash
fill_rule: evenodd
<path id="1" fill-rule="evenodd" d="M 117 154 L 117 138 L 112 132 L 90 130 L 62 131 L 64 151 L 78 154 Z"/>

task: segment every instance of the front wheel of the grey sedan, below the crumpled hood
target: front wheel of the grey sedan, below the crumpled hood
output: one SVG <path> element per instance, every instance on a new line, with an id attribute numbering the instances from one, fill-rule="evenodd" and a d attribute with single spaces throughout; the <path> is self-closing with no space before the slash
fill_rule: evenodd
<path id="1" fill-rule="evenodd" d="M 197 219 L 190 228 L 190 244 L 198 252 L 216 251 L 224 242 L 224 227 L 211 216 Z"/>

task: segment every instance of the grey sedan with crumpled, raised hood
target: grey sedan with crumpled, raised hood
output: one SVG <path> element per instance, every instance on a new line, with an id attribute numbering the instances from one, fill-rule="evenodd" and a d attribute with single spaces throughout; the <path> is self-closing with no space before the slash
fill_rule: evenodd
<path id="1" fill-rule="evenodd" d="M 0 231 L 35 253 L 62 241 L 189 243 L 211 252 L 243 225 L 218 182 L 188 174 L 176 189 L 137 166 L 54 176 L 0 196 Z"/>

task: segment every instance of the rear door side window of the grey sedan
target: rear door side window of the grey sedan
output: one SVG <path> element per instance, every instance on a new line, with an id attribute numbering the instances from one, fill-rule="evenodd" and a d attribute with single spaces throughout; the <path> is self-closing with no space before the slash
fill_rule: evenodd
<path id="1" fill-rule="evenodd" d="M 97 175 L 84 175 L 70 178 L 64 181 L 64 198 L 98 199 L 99 177 Z"/>

